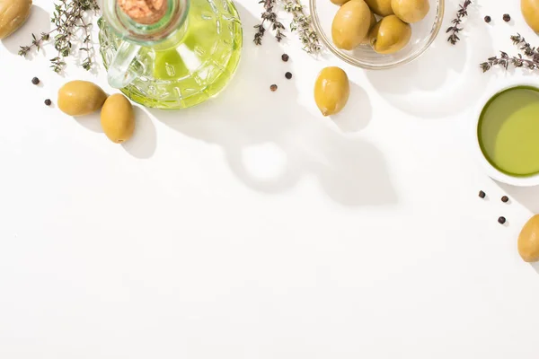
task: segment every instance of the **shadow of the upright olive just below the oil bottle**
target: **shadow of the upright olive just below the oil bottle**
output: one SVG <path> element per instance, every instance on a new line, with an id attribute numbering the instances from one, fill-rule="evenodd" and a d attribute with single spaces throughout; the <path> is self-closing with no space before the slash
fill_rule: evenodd
<path id="1" fill-rule="evenodd" d="M 133 137 L 122 144 L 123 148 L 133 157 L 139 159 L 151 158 L 157 147 L 157 132 L 152 119 L 145 109 L 135 107 L 135 133 Z"/>

